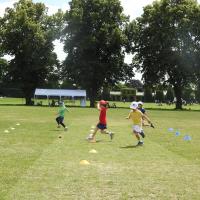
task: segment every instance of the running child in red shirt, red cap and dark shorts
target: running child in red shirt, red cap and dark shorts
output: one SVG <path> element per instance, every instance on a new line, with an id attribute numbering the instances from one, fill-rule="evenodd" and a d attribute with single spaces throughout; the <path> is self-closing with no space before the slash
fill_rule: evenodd
<path id="1" fill-rule="evenodd" d="M 96 142 L 95 135 L 98 130 L 100 130 L 102 134 L 108 134 L 111 140 L 113 139 L 114 133 L 106 130 L 107 129 L 106 112 L 108 109 L 107 106 L 108 106 L 108 102 L 104 100 L 101 100 L 97 104 L 97 109 L 100 111 L 99 122 L 97 126 L 95 127 L 93 133 L 87 138 L 91 142 Z"/>

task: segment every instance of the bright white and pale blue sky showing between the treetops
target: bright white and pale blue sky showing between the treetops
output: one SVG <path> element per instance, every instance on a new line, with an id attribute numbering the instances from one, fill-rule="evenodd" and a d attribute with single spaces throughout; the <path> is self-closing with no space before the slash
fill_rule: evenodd
<path id="1" fill-rule="evenodd" d="M 58 9 L 63 11 L 69 9 L 68 2 L 70 0 L 33 0 L 34 2 L 42 2 L 48 7 L 49 14 L 55 13 Z M 141 16 L 143 7 L 151 4 L 154 0 L 120 0 L 121 5 L 124 8 L 124 14 L 130 16 L 130 20 Z M 0 16 L 3 16 L 4 10 L 7 7 L 12 7 L 13 3 L 17 0 L 0 0 Z M 198 0 L 200 3 L 200 0 Z M 66 54 L 63 52 L 63 45 L 57 40 L 54 42 L 55 52 L 57 53 L 59 60 L 64 60 Z M 132 55 L 126 55 L 125 62 L 131 63 Z M 136 78 L 141 79 L 141 74 L 137 73 Z"/>

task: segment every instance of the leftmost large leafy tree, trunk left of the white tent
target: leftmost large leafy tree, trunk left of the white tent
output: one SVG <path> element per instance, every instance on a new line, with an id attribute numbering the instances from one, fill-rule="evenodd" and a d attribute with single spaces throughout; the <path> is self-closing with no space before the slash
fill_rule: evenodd
<path id="1" fill-rule="evenodd" d="M 43 84 L 57 67 L 53 41 L 62 26 L 62 12 L 48 16 L 42 3 L 19 0 L 7 8 L 1 19 L 2 51 L 12 55 L 9 75 L 23 90 L 26 104 L 31 104 L 34 89 Z"/>

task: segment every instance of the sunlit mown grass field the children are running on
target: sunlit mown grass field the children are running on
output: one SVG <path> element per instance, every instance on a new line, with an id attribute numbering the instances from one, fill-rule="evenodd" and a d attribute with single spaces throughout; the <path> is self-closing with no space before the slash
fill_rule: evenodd
<path id="1" fill-rule="evenodd" d="M 67 132 L 56 128 L 56 112 L 0 106 L 1 200 L 199 200 L 200 112 L 148 111 L 156 128 L 145 127 L 145 144 L 138 148 L 125 119 L 128 109 L 108 111 L 115 138 L 98 134 L 95 144 L 85 138 L 98 121 L 96 109 L 70 108 Z M 184 141 L 185 134 L 192 140 Z"/>

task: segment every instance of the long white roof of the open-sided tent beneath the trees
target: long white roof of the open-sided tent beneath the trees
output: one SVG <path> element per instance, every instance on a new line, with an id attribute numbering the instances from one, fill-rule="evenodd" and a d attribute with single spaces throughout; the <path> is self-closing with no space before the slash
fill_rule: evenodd
<path id="1" fill-rule="evenodd" d="M 86 97 L 86 90 L 35 89 L 36 96 Z"/>

